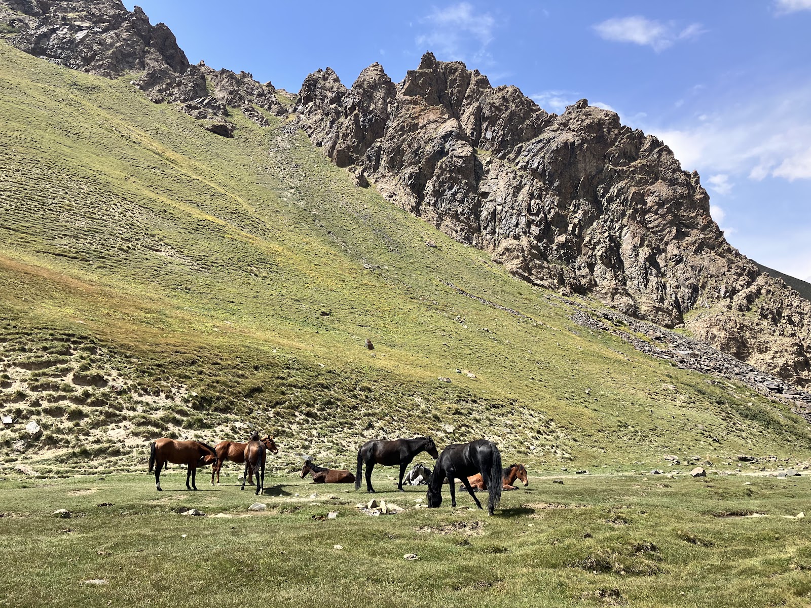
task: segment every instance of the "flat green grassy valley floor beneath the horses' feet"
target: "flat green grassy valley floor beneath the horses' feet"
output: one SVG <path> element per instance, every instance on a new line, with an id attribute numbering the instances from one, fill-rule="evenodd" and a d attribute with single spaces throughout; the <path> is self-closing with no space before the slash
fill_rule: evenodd
<path id="1" fill-rule="evenodd" d="M 189 492 L 173 466 L 161 494 L 144 473 L 0 481 L 0 604 L 811 602 L 811 517 L 796 518 L 811 511 L 807 477 L 544 473 L 488 517 L 467 495 L 451 508 L 447 487 L 439 509 L 415 508 L 424 486 L 400 493 L 380 474 L 374 498 L 405 512 L 371 517 L 357 507 L 371 495 L 292 476 L 268 477 L 267 511 L 248 512 L 255 496 L 238 490 L 237 469 Z M 179 514 L 191 508 L 207 515 Z"/>

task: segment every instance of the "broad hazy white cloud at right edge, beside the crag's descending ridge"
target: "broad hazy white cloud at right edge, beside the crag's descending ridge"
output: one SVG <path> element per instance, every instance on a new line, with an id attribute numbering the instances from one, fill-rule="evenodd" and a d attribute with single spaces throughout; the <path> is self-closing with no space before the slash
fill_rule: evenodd
<path id="1" fill-rule="evenodd" d="M 742 99 L 702 113 L 701 124 L 692 118 L 684 126 L 646 131 L 667 143 L 687 170 L 757 181 L 811 179 L 811 84 Z"/>

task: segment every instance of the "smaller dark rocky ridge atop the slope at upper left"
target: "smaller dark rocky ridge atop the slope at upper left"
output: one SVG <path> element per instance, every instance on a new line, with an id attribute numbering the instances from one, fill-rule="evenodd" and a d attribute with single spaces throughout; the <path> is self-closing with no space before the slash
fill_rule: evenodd
<path id="1" fill-rule="evenodd" d="M 132 74 L 152 101 L 177 103 L 215 125 L 224 124 L 229 107 L 263 126 L 268 119 L 255 106 L 287 113 L 271 83 L 191 65 L 165 24 L 153 26 L 139 6 L 127 11 L 121 0 L 0 0 L 0 23 L 19 32 L 9 41 L 28 54 L 105 78 Z"/>

